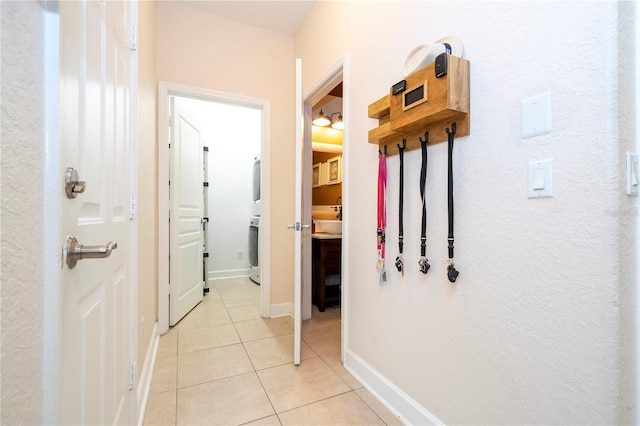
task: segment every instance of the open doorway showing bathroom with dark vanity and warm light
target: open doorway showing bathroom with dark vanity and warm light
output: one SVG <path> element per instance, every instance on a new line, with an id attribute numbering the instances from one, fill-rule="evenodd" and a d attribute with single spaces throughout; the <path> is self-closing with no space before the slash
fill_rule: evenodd
<path id="1" fill-rule="evenodd" d="M 339 353 L 338 359 L 344 359 L 344 343 L 347 337 L 345 330 L 348 265 L 343 262 L 342 254 L 348 244 L 348 194 L 344 190 L 348 174 L 342 166 L 343 158 L 348 154 L 348 130 L 347 127 L 344 130 L 336 130 L 335 127 L 338 126 L 332 128 L 331 125 L 342 120 L 345 123 L 348 121 L 345 114 L 348 99 L 343 96 L 343 92 L 347 93 L 348 88 L 348 81 L 343 74 L 346 61 L 345 55 L 321 76 L 304 97 L 303 220 L 305 223 L 313 223 L 315 233 L 312 233 L 312 238 L 303 242 L 302 318 L 307 321 L 303 324 L 302 341 L 308 344 L 309 340 L 314 338 L 313 334 L 319 323 L 331 323 L 337 333 L 337 340 L 331 339 L 331 346 Z M 333 133 L 333 140 L 316 139 L 319 137 L 318 130 L 314 131 L 312 121 L 318 117 L 320 109 L 329 120 L 326 123 L 328 125 L 318 127 L 327 127 L 324 133 Z M 329 129 L 331 132 L 327 132 Z M 316 147 L 315 153 L 313 145 Z M 323 220 L 325 222 L 321 223 Z M 333 229 L 329 229 L 329 226 Z M 328 240 L 333 240 L 333 247 L 325 253 L 318 250 L 322 238 L 317 237 L 322 235 Z M 330 256 L 330 261 L 327 261 L 327 255 Z M 320 272 L 320 268 L 323 267 L 324 274 Z M 319 286 L 324 286 L 323 301 Z M 318 305 L 324 305 L 324 312 L 320 311 Z"/>

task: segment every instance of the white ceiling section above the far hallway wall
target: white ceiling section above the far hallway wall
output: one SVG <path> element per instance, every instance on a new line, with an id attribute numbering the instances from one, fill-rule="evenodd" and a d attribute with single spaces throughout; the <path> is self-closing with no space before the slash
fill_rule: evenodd
<path id="1" fill-rule="evenodd" d="M 315 0 L 176 0 L 244 24 L 293 35 Z"/>

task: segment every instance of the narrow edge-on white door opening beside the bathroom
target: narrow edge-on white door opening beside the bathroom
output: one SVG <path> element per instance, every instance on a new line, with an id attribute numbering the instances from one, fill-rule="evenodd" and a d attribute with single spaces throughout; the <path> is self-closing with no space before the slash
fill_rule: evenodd
<path id="1" fill-rule="evenodd" d="M 302 154 L 304 152 L 304 111 L 302 103 L 302 59 L 296 59 L 296 182 L 295 182 L 295 222 L 294 238 L 294 326 L 293 326 L 293 363 L 300 365 L 300 347 L 302 343 Z"/>

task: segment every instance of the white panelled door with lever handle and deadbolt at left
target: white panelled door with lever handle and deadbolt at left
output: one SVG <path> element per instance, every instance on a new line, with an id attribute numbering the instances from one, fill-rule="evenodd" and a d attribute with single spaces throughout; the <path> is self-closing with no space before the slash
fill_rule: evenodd
<path id="1" fill-rule="evenodd" d="M 129 381 L 135 55 L 130 31 L 135 7 L 129 1 L 59 2 L 60 182 L 66 167 L 75 168 L 86 182 L 75 198 L 60 191 L 60 235 L 76 237 L 85 246 L 117 243 L 108 258 L 85 258 L 73 268 L 67 262 L 70 251 L 63 253 L 59 424 L 129 424 L 135 411 Z M 103 251 L 106 256 L 108 250 Z"/>

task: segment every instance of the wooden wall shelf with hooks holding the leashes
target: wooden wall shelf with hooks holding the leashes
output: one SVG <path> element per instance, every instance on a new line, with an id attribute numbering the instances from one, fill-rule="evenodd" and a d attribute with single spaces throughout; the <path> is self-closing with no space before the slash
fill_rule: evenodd
<path id="1" fill-rule="evenodd" d="M 378 119 L 378 127 L 369 130 L 369 143 L 380 149 L 387 146 L 387 155 L 398 153 L 398 144 L 407 140 L 406 150 L 418 149 L 419 137 L 429 132 L 429 144 L 447 141 L 446 128 L 456 123 L 456 137 L 467 136 L 469 129 L 469 61 L 448 57 L 447 75 L 436 78 L 435 63 L 406 78 L 406 90 L 389 94 L 369 105 L 369 117 Z M 405 101 L 414 89 L 424 93 L 417 102 Z M 409 103 L 408 106 L 405 104 Z"/>

